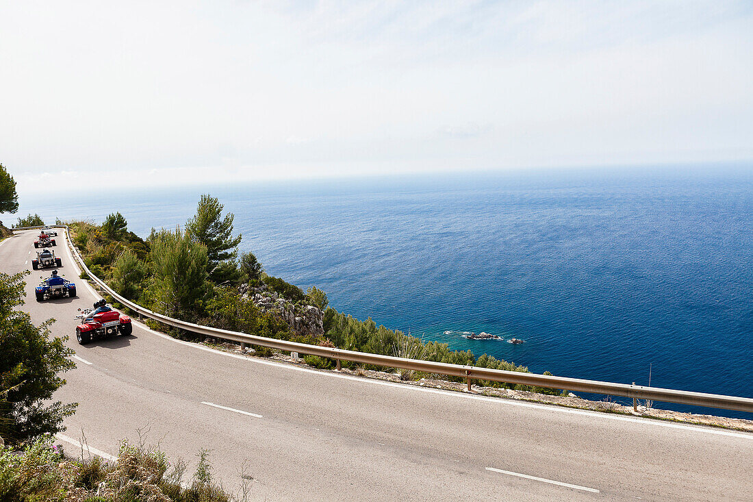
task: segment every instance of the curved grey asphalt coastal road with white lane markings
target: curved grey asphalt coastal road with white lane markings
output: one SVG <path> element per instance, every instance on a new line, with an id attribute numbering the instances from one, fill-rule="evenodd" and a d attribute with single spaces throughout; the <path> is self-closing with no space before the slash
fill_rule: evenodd
<path id="1" fill-rule="evenodd" d="M 753 434 L 539 406 L 332 375 L 223 354 L 134 323 L 133 335 L 75 341 L 98 299 L 59 231 L 78 298 L 24 308 L 70 335 L 77 368 L 56 393 L 78 402 L 66 436 L 117 455 L 160 443 L 250 500 L 751 500 Z M 0 243 L 0 271 L 31 269 L 35 231 Z M 96 449 L 95 449 L 96 448 Z M 75 451 L 69 447 L 69 451 Z"/>

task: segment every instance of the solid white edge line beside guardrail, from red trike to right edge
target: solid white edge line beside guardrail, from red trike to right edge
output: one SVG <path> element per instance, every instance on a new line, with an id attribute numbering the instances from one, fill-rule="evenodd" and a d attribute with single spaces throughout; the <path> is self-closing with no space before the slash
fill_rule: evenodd
<path id="1" fill-rule="evenodd" d="M 361 377 L 356 377 L 356 376 L 351 376 L 351 375 L 342 375 L 339 373 L 320 372 L 320 371 L 316 371 L 316 369 L 308 369 L 308 368 L 303 368 L 301 366 L 294 366 L 291 364 L 277 363 L 276 361 L 266 361 L 266 360 L 258 359 L 256 357 L 230 354 L 229 352 L 224 352 L 222 350 L 213 349 L 211 347 L 205 347 L 204 345 L 200 345 L 200 344 L 194 344 L 194 343 L 191 343 L 190 341 L 184 341 L 184 340 L 178 340 L 177 338 L 172 338 L 172 336 L 165 335 L 164 333 L 160 333 L 158 331 L 154 331 L 154 329 L 151 329 L 149 326 L 146 326 L 144 323 L 139 323 L 139 321 L 136 321 L 136 320 L 132 320 L 132 322 L 133 324 L 136 324 L 136 326 L 139 326 L 139 328 L 143 329 L 145 332 L 150 332 L 153 335 L 157 335 L 160 338 L 165 338 L 166 340 L 172 341 L 172 343 L 175 343 L 175 344 L 187 345 L 188 347 L 194 347 L 197 350 L 206 350 L 206 352 L 212 352 L 213 354 L 218 354 L 219 356 L 233 357 L 235 359 L 242 359 L 242 360 L 249 361 L 251 363 L 267 364 L 269 366 L 277 366 L 278 368 L 285 368 L 291 371 L 312 373 L 313 375 L 319 375 L 325 378 L 326 377 L 343 378 L 345 380 L 357 381 L 357 382 L 361 382 L 361 384 L 367 384 L 367 385 L 384 385 L 386 387 L 395 387 L 398 389 L 403 389 L 403 390 L 408 390 L 408 391 L 414 390 L 418 392 L 441 394 L 443 396 L 453 396 L 459 399 L 477 399 L 479 401 L 486 401 L 488 403 L 498 403 L 498 404 L 501 404 L 502 406 L 522 406 L 523 408 L 542 409 L 548 412 L 569 413 L 571 415 L 585 415 L 585 416 L 593 417 L 593 418 L 602 418 L 603 420 L 617 420 L 617 421 L 623 421 L 623 422 L 633 422 L 635 424 L 654 425 L 656 427 L 669 427 L 672 429 L 693 430 L 695 432 L 700 432 L 700 433 L 718 434 L 720 436 L 731 436 L 731 437 L 737 437 L 737 438 L 742 438 L 742 439 L 753 439 L 753 434 L 750 434 L 750 433 L 738 433 L 738 432 L 733 432 L 731 430 L 713 429 L 712 427 L 700 427 L 700 426 L 695 426 L 695 425 L 675 424 L 672 422 L 652 420 L 651 418 L 632 418 L 632 417 L 614 415 L 611 413 L 590 412 L 590 411 L 581 410 L 581 409 L 562 408 L 561 406 L 553 406 L 553 405 L 550 406 L 550 405 L 543 405 L 543 404 L 536 404 L 536 403 L 526 403 L 524 401 L 516 401 L 514 399 L 505 399 L 503 397 L 476 396 L 476 395 L 468 394 L 468 393 L 453 392 L 451 390 L 431 389 L 428 387 L 419 387 L 418 385 L 395 384 L 389 381 L 371 380 L 370 378 L 361 378 Z"/>

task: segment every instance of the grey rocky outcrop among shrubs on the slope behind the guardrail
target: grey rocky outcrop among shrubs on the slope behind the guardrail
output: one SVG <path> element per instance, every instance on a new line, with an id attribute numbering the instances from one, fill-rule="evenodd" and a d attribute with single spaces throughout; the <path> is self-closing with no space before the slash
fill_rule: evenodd
<path id="1" fill-rule="evenodd" d="M 238 292 L 243 298 L 249 298 L 264 313 L 276 315 L 288 323 L 296 335 L 322 336 L 324 329 L 324 312 L 313 305 L 291 302 L 288 298 L 271 291 L 267 284 L 250 287 L 242 284 Z"/>

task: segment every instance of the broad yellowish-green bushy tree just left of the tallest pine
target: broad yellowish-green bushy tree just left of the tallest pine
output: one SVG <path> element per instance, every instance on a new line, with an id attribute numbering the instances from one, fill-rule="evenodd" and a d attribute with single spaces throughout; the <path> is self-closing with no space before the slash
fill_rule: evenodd
<path id="1" fill-rule="evenodd" d="M 180 228 L 162 230 L 154 235 L 149 258 L 154 270 L 154 308 L 171 317 L 195 320 L 211 291 L 206 246 Z"/>

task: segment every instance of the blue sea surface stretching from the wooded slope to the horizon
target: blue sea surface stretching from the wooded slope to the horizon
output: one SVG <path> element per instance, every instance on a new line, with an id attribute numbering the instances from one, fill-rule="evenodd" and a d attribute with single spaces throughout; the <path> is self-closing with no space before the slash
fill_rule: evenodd
<path id="1" fill-rule="evenodd" d="M 268 274 L 354 317 L 534 372 L 753 396 L 753 167 L 114 191 L 22 197 L 18 214 L 120 211 L 146 237 L 204 192 Z"/>

